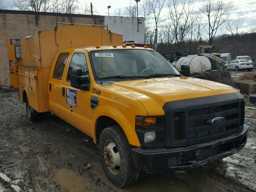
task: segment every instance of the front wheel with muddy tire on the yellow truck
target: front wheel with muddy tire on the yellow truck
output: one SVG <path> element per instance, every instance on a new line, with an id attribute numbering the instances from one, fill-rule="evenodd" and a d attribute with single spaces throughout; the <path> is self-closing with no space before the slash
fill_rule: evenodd
<path id="1" fill-rule="evenodd" d="M 99 153 L 102 168 L 115 186 L 128 186 L 138 179 L 140 171 L 134 166 L 130 145 L 119 126 L 101 132 Z"/>

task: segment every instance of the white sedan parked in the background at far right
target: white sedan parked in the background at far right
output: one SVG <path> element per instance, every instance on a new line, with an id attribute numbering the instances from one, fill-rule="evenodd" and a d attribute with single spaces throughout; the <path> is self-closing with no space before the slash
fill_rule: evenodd
<path id="1" fill-rule="evenodd" d="M 232 60 L 228 64 L 224 65 L 225 70 L 248 70 L 251 71 L 253 68 L 252 62 L 244 59 Z"/>

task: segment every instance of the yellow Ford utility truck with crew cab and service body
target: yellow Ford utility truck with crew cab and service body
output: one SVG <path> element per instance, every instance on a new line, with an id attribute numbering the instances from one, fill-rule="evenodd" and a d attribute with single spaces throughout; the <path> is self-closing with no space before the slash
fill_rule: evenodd
<path id="1" fill-rule="evenodd" d="M 140 171 L 202 166 L 246 144 L 240 92 L 184 76 L 188 66 L 179 72 L 147 46 L 122 45 L 104 26 L 58 26 L 18 41 L 8 39 L 10 76 L 29 120 L 53 112 L 92 137 L 118 187 Z"/>

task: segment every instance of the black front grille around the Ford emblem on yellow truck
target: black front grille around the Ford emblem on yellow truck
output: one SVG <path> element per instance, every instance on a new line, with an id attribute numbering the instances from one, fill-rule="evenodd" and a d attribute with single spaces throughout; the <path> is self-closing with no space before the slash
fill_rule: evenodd
<path id="1" fill-rule="evenodd" d="M 243 130 L 244 98 L 239 92 L 166 102 L 166 146 L 210 142 Z M 214 124 L 212 120 L 224 117 Z"/>

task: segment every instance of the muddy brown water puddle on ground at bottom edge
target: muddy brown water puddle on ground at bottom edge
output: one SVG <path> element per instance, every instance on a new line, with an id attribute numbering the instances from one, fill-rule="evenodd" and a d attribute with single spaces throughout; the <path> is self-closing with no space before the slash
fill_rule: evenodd
<path id="1" fill-rule="evenodd" d="M 67 188 L 70 192 L 80 192 L 90 185 L 85 178 L 77 176 L 75 172 L 64 169 L 56 172 L 54 181 Z"/>

